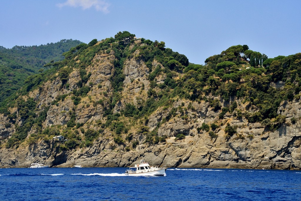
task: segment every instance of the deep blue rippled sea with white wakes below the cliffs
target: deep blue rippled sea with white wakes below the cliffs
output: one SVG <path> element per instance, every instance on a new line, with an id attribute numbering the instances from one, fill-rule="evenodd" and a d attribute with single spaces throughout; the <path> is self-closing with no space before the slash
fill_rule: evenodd
<path id="1" fill-rule="evenodd" d="M 1 168 L 0 200 L 301 200 L 301 171 L 168 168 Z"/>

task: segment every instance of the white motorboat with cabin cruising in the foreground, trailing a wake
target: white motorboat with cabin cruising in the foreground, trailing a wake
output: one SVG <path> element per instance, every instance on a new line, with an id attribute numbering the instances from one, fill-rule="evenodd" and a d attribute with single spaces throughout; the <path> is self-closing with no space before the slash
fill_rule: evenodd
<path id="1" fill-rule="evenodd" d="M 150 166 L 144 160 L 140 161 L 140 164 L 136 164 L 135 167 L 130 167 L 124 174 L 129 176 L 164 176 L 166 167 L 153 167 Z"/>

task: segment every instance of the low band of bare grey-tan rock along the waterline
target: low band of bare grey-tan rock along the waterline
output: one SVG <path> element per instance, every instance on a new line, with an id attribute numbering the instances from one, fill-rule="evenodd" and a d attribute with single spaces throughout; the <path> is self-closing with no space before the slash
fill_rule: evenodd
<path id="1" fill-rule="evenodd" d="M 166 124 L 160 127 L 162 132 L 170 136 L 166 143 L 147 146 L 143 144 L 142 138 L 139 142 L 141 144 L 129 151 L 126 151 L 124 145 L 118 145 L 106 138 L 100 138 L 92 147 L 70 151 L 56 150 L 55 142 L 49 144 L 41 141 L 14 151 L 3 149 L 1 165 L 24 167 L 34 161 L 59 167 L 70 167 L 74 164 L 124 167 L 139 159 L 145 159 L 153 165 L 168 167 L 300 168 L 300 134 L 296 136 L 287 133 L 286 136 L 281 136 L 279 131 L 275 131 L 254 135 L 252 139 L 247 136 L 245 139 L 236 139 L 233 136 L 225 140 L 223 130 L 217 132 L 218 137 L 211 138 L 208 133 L 197 133 L 196 129 L 190 129 L 183 122 Z M 248 130 L 249 133 L 252 131 L 249 128 Z M 176 140 L 175 131 L 187 136 L 183 140 Z"/>

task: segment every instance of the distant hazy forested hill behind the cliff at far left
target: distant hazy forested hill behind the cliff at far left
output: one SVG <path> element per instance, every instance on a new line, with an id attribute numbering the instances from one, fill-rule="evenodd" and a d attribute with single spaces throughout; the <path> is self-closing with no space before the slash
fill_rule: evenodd
<path id="1" fill-rule="evenodd" d="M 79 40 L 64 39 L 40 46 L 0 46 L 0 102 L 19 89 L 26 77 L 42 72 L 43 65 L 64 59 L 64 52 L 79 45 Z"/>

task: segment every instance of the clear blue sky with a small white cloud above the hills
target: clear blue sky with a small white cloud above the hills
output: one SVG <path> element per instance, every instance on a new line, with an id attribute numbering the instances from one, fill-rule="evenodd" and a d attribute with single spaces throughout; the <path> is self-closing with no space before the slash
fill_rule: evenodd
<path id="1" fill-rule="evenodd" d="M 274 58 L 301 52 L 300 10 L 299 0 L 1 0 L 0 46 L 88 43 L 129 31 L 196 64 L 233 45 Z"/>

